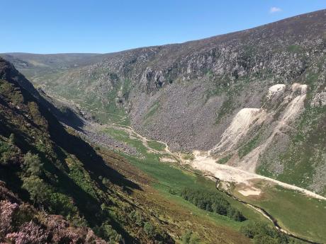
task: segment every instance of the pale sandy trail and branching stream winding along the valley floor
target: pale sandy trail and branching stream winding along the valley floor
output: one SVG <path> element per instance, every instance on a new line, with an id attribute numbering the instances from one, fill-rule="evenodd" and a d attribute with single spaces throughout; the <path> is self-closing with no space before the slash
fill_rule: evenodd
<path id="1" fill-rule="evenodd" d="M 122 116 L 121 116 L 122 117 Z M 123 119 L 123 118 L 122 118 Z M 94 126 L 94 124 L 92 124 L 92 126 Z M 116 129 L 121 129 L 125 132 L 127 132 L 129 134 L 130 137 L 137 137 L 138 139 L 140 139 L 142 141 L 142 144 L 147 148 L 147 150 L 149 152 L 152 153 L 158 153 L 162 156 L 170 156 L 172 158 L 174 158 L 174 160 L 179 163 L 180 167 L 183 168 L 184 170 L 187 170 L 195 175 L 201 175 L 203 177 L 206 178 L 210 178 L 211 180 L 215 180 L 215 187 L 218 191 L 223 192 L 224 194 L 227 194 L 227 196 L 231 197 L 232 199 L 236 200 L 237 202 L 241 202 L 242 204 L 247 205 L 248 207 L 251 207 L 252 209 L 254 209 L 255 211 L 259 212 L 259 214 L 262 214 L 262 216 L 264 216 L 266 219 L 268 219 L 269 221 L 271 221 L 271 223 L 273 223 L 274 227 L 280 231 L 281 233 L 286 234 L 286 236 L 289 236 L 291 238 L 295 238 L 297 240 L 302 240 L 305 241 L 306 243 L 311 243 L 311 244 L 323 244 L 323 243 L 316 243 L 312 240 L 308 240 L 305 238 L 301 238 L 299 236 L 296 236 L 295 234 L 286 231 L 285 229 L 283 229 L 281 226 L 279 226 L 278 221 L 271 216 L 271 214 L 269 214 L 269 212 L 267 212 L 265 209 L 262 209 L 262 207 L 258 207 L 257 205 L 254 204 L 250 204 L 249 202 L 245 202 L 242 199 L 239 199 L 237 197 L 235 197 L 235 195 L 231 194 L 230 192 L 227 192 L 227 190 L 223 190 L 219 187 L 220 182 L 236 182 L 236 183 L 245 183 L 247 185 L 250 186 L 249 184 L 249 180 L 254 180 L 254 179 L 261 179 L 261 180 L 266 180 L 269 182 L 274 182 L 278 185 L 281 185 L 282 187 L 291 189 L 291 190 L 296 190 L 299 191 L 303 194 L 306 194 L 308 197 L 315 197 L 317 199 L 322 199 L 322 200 L 326 200 L 325 197 L 322 197 L 318 194 L 315 194 L 314 192 L 310 192 L 308 190 L 302 189 L 300 187 L 296 187 L 293 185 L 289 185 L 283 182 L 280 182 L 278 180 L 274 180 L 271 178 L 267 178 L 264 177 L 262 175 L 257 175 L 254 173 L 249 173 L 245 170 L 241 170 L 239 168 L 234 168 L 232 166 L 229 165 L 222 165 L 222 164 L 218 164 L 216 163 L 216 160 L 209 156 L 208 152 L 200 152 L 200 151 L 194 151 L 193 155 L 193 161 L 189 161 L 189 160 L 185 160 L 184 158 L 182 158 L 181 156 L 179 156 L 178 153 L 174 153 L 172 151 L 169 150 L 169 145 L 167 143 L 165 143 L 164 141 L 157 141 L 157 140 L 152 140 L 152 139 L 147 139 L 145 136 L 142 136 L 141 134 L 135 132 L 135 130 L 133 129 L 133 127 L 130 127 L 128 125 L 121 125 L 121 124 L 111 124 L 111 125 L 99 125 L 96 124 L 96 127 L 113 127 Z M 161 144 L 164 144 L 165 148 L 164 148 L 164 152 L 159 151 L 157 149 L 152 149 L 149 145 L 148 145 L 148 141 L 157 141 Z M 191 170 L 189 168 L 187 168 L 185 165 L 191 165 L 191 168 L 197 169 L 202 173 L 198 173 L 194 170 Z"/>

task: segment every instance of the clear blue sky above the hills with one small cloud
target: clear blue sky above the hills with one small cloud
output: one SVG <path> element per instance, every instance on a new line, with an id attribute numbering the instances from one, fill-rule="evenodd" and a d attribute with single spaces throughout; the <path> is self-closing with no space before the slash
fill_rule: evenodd
<path id="1" fill-rule="evenodd" d="M 116 52 L 244 30 L 325 0 L 0 0 L 0 52 Z"/>

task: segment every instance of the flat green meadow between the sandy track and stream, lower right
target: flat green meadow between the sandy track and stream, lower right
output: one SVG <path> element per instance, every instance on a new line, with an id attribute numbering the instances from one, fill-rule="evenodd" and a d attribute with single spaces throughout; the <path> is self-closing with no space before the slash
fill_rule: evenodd
<path id="1" fill-rule="evenodd" d="M 291 233 L 325 243 L 326 201 L 279 186 L 264 187 L 264 194 L 264 199 L 246 200 L 268 211 L 280 226 Z"/>

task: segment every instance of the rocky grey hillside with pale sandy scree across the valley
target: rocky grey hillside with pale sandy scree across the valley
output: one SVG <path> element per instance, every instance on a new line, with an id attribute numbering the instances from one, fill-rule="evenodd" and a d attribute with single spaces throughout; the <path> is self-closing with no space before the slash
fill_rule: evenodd
<path id="1" fill-rule="evenodd" d="M 127 114 L 174 150 L 213 149 L 232 165 L 325 193 L 325 54 L 323 10 L 92 64 L 76 59 L 77 68 L 51 74 L 21 71 L 103 122 Z"/>

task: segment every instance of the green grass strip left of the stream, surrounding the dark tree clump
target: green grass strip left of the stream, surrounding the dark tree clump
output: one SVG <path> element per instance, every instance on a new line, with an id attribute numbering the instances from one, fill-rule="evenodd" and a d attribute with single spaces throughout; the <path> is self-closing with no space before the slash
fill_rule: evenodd
<path id="1" fill-rule="evenodd" d="M 108 128 L 105 132 L 114 138 L 119 139 L 120 141 L 126 142 L 130 146 L 134 146 L 137 151 L 142 154 L 141 158 L 129 156 L 125 153 L 120 153 L 120 155 L 127 158 L 131 164 L 135 165 L 137 168 L 154 178 L 152 185 L 160 192 L 160 194 L 162 194 L 170 201 L 173 201 L 176 204 L 189 209 L 189 211 L 191 211 L 193 214 L 202 218 L 208 218 L 210 221 L 213 221 L 220 226 L 229 226 L 230 228 L 233 228 L 237 231 L 239 231 L 240 227 L 245 225 L 248 221 L 266 221 L 266 219 L 264 219 L 264 217 L 262 217 L 260 214 L 256 213 L 252 209 L 249 209 L 249 207 L 240 204 L 239 202 L 235 202 L 226 195 L 225 197 L 230 202 L 230 204 L 233 207 L 240 209 L 246 218 L 249 219 L 248 221 L 232 221 L 226 216 L 198 209 L 198 207 L 195 205 L 182 199 L 182 197 L 179 197 L 179 193 L 184 189 L 184 187 L 189 186 L 191 186 L 193 189 L 198 190 L 214 190 L 215 182 L 208 180 L 207 178 L 194 175 L 189 171 L 183 170 L 179 168 L 179 165 L 177 164 L 161 163 L 159 161 L 159 157 L 161 156 L 160 154 L 149 153 L 146 147 L 142 145 L 142 141 L 140 141 L 140 139 L 130 139 L 128 134 L 122 130 Z M 156 147 L 160 146 L 162 148 L 163 144 L 158 143 L 154 145 Z M 171 192 L 174 192 L 174 194 L 171 194 Z"/>

